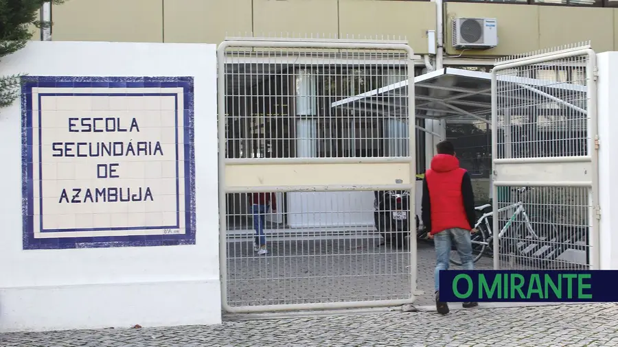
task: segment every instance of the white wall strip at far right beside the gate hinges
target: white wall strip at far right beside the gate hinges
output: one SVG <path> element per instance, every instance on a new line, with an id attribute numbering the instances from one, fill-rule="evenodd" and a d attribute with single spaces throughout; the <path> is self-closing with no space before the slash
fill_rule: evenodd
<path id="1" fill-rule="evenodd" d="M 597 54 L 601 269 L 618 270 L 618 52 Z"/>

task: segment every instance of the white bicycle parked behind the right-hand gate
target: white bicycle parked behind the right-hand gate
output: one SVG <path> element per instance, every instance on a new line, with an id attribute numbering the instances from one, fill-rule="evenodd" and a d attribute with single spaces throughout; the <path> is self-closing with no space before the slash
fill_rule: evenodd
<path id="1" fill-rule="evenodd" d="M 520 188 L 520 189 L 517 189 L 517 191 L 518 193 L 523 193 L 527 191 L 527 188 L 526 187 Z M 491 204 L 485 204 L 483 206 L 478 206 L 474 208 L 476 211 L 483 213 L 483 215 L 481 215 L 481 217 L 479 217 L 479 219 L 477 220 L 476 224 L 474 224 L 474 230 L 476 230 L 476 232 L 474 232 L 470 237 L 472 241 L 472 254 L 474 255 L 474 258 L 472 259 L 472 261 L 474 263 L 479 261 L 479 259 L 481 259 L 481 256 L 483 256 L 483 254 L 485 254 L 486 252 L 487 253 L 492 252 L 493 250 L 492 246 L 493 246 L 494 234 L 492 232 L 491 219 L 494 216 L 494 211 L 488 211 L 489 208 L 492 208 Z M 541 236 L 547 236 L 547 235 L 538 235 L 538 232 L 536 232 L 534 228 L 532 228 L 533 222 L 530 221 L 530 218 L 523 206 L 523 202 L 518 201 L 514 204 L 510 204 L 509 206 L 499 208 L 497 212 L 501 213 L 501 212 L 510 211 L 510 210 L 515 210 L 515 211 L 513 215 L 507 220 L 507 222 L 505 223 L 503 228 L 500 230 L 500 232 L 498 233 L 498 239 L 501 239 L 506 234 L 506 232 L 509 231 L 510 228 L 512 228 L 512 225 L 514 224 L 514 222 L 516 222 L 517 218 L 520 215 L 523 217 L 523 225 L 525 227 L 525 230 L 527 230 L 529 235 L 531 235 L 531 241 L 542 241 Z M 488 212 L 485 212 L 485 211 L 488 211 Z M 520 225 L 518 226 L 518 229 L 519 228 L 521 228 Z M 553 230 L 551 230 L 550 232 L 555 234 L 556 227 L 552 225 L 552 228 Z M 513 237 L 513 239 L 521 239 L 521 238 Z M 530 240 L 527 240 L 527 241 L 530 241 Z M 512 247 L 508 247 L 508 248 L 513 249 Z M 514 247 L 514 248 L 516 248 L 518 252 L 521 252 L 522 250 L 522 248 L 519 248 L 519 247 Z M 459 260 L 453 259 L 453 256 L 450 257 L 450 263 L 453 263 L 455 265 L 463 265 L 463 263 L 461 262 L 461 259 Z"/>

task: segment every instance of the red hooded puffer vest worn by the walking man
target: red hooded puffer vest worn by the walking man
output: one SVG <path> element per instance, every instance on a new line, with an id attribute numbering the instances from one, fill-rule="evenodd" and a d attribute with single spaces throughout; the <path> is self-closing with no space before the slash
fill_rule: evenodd
<path id="1" fill-rule="evenodd" d="M 431 169 L 425 173 L 431 202 L 431 235 L 450 228 L 470 230 L 466 217 L 461 180 L 465 169 L 459 160 L 448 154 L 438 154 L 431 159 Z"/>

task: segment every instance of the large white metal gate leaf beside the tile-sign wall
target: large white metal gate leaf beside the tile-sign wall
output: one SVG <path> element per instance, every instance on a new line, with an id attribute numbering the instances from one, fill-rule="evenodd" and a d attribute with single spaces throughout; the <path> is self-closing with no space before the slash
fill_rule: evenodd
<path id="1" fill-rule="evenodd" d="M 386 214 L 389 227 L 402 226 L 391 218 L 409 221 L 415 211 L 413 198 L 401 211 L 376 204 L 388 191 L 396 191 L 393 201 L 415 196 L 413 59 L 406 43 L 392 41 L 254 38 L 220 45 L 225 311 L 413 301 L 415 237 L 409 247 L 398 238 L 413 227 L 387 232 L 394 243 L 385 245 L 376 232 Z M 393 83 L 409 88 L 379 114 L 334 107 Z"/>

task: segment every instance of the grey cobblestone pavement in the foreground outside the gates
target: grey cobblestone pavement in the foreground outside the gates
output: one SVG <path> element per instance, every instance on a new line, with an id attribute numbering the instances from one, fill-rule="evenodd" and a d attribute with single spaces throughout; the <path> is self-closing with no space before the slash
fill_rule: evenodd
<path id="1" fill-rule="evenodd" d="M 481 304 L 482 305 L 482 304 Z M 618 346 L 617 304 L 571 304 L 0 334 L 0 346 Z"/>

